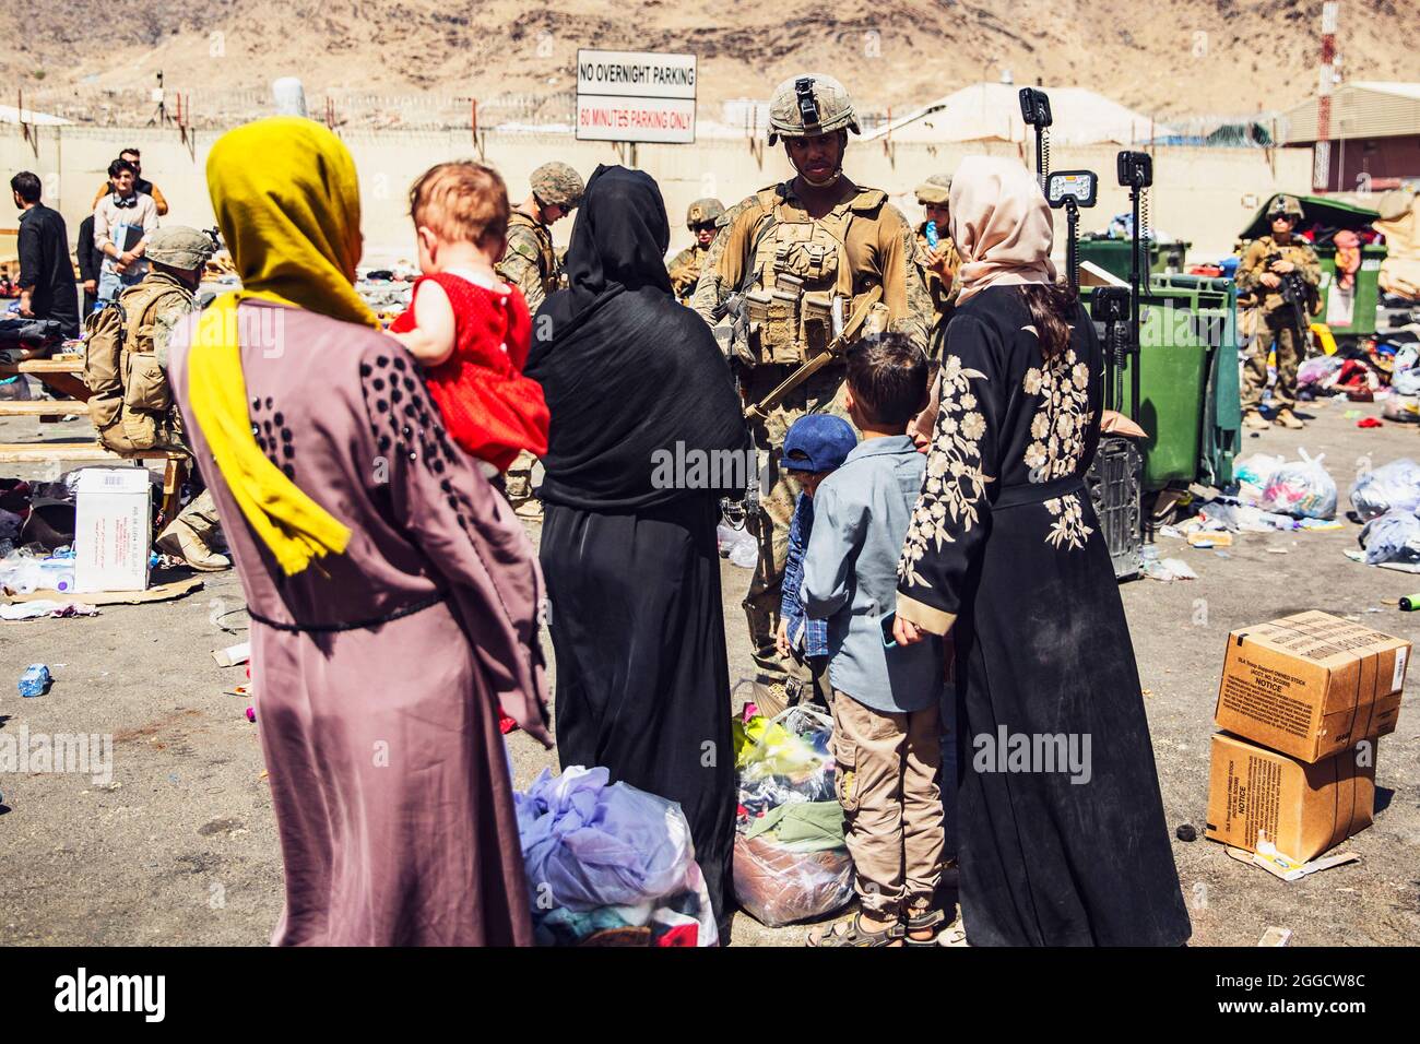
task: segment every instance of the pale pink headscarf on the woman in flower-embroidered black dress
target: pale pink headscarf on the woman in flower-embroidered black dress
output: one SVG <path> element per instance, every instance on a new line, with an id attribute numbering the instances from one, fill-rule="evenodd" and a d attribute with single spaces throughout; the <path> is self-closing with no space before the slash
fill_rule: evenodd
<path id="1" fill-rule="evenodd" d="M 1055 222 L 1041 185 L 1014 159 L 967 156 L 951 176 L 957 304 L 987 287 L 1054 283 Z"/>

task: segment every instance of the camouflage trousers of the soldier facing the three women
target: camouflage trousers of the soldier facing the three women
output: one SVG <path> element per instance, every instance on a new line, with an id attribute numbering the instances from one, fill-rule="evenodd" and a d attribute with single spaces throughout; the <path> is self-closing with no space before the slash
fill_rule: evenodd
<path id="1" fill-rule="evenodd" d="M 791 372 L 791 366 L 757 368 L 746 382 L 750 402 L 763 399 Z M 784 595 L 784 564 L 790 554 L 790 523 L 799 494 L 798 479 L 780 467 L 780 450 L 790 426 L 805 413 L 834 413 L 848 419 L 843 408 L 846 376 L 848 371 L 842 364 L 826 366 L 790 392 L 784 402 L 770 410 L 767 420 L 750 425 L 760 469 L 760 510 L 750 514 L 746 528 L 758 544 L 760 554 L 743 605 L 758 682 L 788 685 L 792 679 L 801 685 L 812 685 L 804 665 L 781 660 L 774 648 L 780 601 Z"/>

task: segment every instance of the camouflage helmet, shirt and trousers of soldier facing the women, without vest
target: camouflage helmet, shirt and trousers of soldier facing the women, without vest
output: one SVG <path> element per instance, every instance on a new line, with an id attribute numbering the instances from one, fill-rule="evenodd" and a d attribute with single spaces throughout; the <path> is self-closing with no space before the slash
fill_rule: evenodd
<path id="1" fill-rule="evenodd" d="M 805 81 L 821 112 L 821 121 L 807 128 L 798 105 L 799 87 Z M 775 91 L 770 104 L 771 145 L 780 135 L 819 135 L 836 129 L 858 132 L 852 102 L 838 81 L 815 75 L 790 80 Z M 888 202 L 885 192 L 842 179 L 838 203 L 824 217 L 814 219 L 794 186 L 795 182 L 790 180 L 761 189 L 717 220 L 720 232 L 706 253 L 692 307 L 714 325 L 731 293 L 751 286 L 765 288 L 768 266 L 777 264 L 775 251 L 792 250 L 795 244 L 819 250 L 832 246 L 836 249 L 835 266 L 825 278 L 832 283 L 834 293 L 851 298 L 845 320 L 866 293 L 882 287 L 878 310 L 885 312 L 883 324 L 926 348 L 932 304 L 926 284 L 912 263 L 916 241 L 902 212 Z M 734 361 L 747 403 L 764 399 L 797 369 L 797 362 L 781 359 L 777 349 L 774 361 L 765 361 L 763 354 L 754 359 L 736 355 Z M 774 648 L 790 520 L 801 489 L 792 472 L 780 469 L 780 452 L 790 426 L 808 412 L 828 412 L 848 419 L 843 408 L 846 376 L 846 365 L 835 361 L 791 391 L 768 410 L 765 420 L 750 423 L 761 474 L 761 510 L 751 513 L 746 521 L 758 543 L 760 555 L 744 598 L 744 611 L 760 682 L 757 697 L 761 700 L 775 683 L 787 685 L 790 676 L 801 683 L 805 680 L 795 665 L 780 659 Z"/>

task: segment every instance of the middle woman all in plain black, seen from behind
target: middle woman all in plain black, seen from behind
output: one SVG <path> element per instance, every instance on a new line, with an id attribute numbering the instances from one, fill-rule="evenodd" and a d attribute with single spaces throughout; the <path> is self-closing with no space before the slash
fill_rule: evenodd
<path id="1" fill-rule="evenodd" d="M 558 758 L 680 803 L 724 939 L 736 795 L 716 523 L 753 457 L 730 368 L 670 293 L 669 243 L 656 182 L 596 168 L 571 288 L 538 310 L 527 365 L 552 415 L 540 554 Z"/>

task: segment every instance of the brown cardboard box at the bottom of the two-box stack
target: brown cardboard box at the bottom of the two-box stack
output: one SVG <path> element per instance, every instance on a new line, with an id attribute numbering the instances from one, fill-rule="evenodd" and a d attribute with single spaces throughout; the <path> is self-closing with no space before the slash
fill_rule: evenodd
<path id="1" fill-rule="evenodd" d="M 1306 862 L 1370 825 L 1375 746 L 1315 764 L 1218 733 L 1213 737 L 1204 834 L 1257 851 L 1258 831 L 1294 862 Z M 1363 763 L 1365 761 L 1365 763 Z"/>

